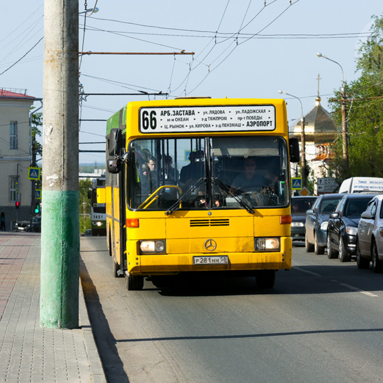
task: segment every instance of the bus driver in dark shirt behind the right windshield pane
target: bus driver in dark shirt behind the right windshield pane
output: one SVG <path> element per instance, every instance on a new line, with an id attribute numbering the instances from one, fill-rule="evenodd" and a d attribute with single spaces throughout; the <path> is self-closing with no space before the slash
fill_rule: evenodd
<path id="1" fill-rule="evenodd" d="M 254 158 L 248 157 L 244 162 L 244 173 L 237 175 L 230 187 L 234 193 L 246 193 L 260 191 L 264 187 L 268 187 L 277 182 L 278 177 L 267 170 L 255 170 L 257 163 Z"/>

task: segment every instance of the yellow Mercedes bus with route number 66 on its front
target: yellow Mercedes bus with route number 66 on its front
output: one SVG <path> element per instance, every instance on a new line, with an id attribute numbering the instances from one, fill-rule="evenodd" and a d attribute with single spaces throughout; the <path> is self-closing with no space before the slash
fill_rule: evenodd
<path id="1" fill-rule="evenodd" d="M 221 271 L 272 288 L 291 268 L 286 104 L 273 99 L 129 102 L 107 121 L 106 234 L 113 275 Z"/>

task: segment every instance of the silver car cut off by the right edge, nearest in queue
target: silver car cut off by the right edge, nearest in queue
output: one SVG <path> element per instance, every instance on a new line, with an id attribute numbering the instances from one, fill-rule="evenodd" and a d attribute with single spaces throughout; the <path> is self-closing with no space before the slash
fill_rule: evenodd
<path id="1" fill-rule="evenodd" d="M 357 231 L 358 268 L 370 267 L 374 273 L 383 272 L 383 195 L 375 196 L 362 213 Z"/>

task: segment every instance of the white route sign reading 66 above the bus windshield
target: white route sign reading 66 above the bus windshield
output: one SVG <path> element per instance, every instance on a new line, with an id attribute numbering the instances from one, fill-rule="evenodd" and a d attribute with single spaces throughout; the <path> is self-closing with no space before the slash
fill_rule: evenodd
<path id="1" fill-rule="evenodd" d="M 159 106 L 139 110 L 141 133 L 273 131 L 274 105 Z"/>

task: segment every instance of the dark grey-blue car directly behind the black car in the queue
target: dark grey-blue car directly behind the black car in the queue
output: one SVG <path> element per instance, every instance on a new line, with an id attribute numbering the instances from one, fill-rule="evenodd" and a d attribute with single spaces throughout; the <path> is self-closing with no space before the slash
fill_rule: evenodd
<path id="1" fill-rule="evenodd" d="M 329 215 L 335 209 L 344 194 L 323 194 L 315 201 L 314 206 L 306 211 L 305 247 L 307 252 L 324 254 L 327 239 L 327 223 Z"/>

